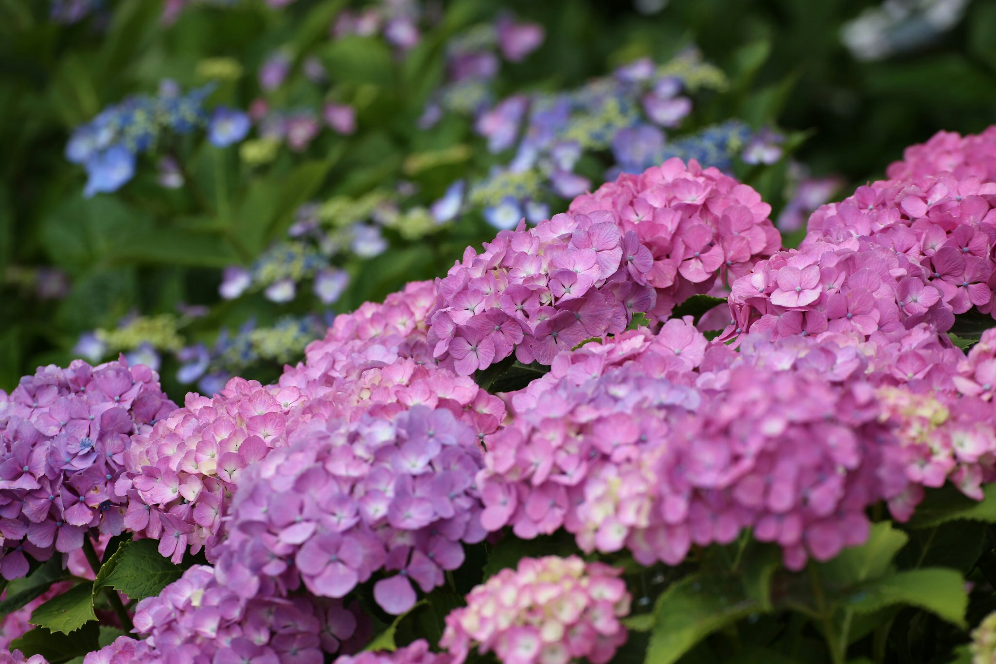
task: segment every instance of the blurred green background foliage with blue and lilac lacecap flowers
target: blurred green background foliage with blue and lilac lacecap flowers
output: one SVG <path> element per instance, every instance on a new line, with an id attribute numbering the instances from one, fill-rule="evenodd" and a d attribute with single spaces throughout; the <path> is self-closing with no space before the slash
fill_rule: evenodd
<path id="1" fill-rule="evenodd" d="M 118 352 L 174 399 L 272 380 L 334 313 L 670 156 L 791 245 L 994 120 L 996 0 L 0 0 L 0 388 Z"/>

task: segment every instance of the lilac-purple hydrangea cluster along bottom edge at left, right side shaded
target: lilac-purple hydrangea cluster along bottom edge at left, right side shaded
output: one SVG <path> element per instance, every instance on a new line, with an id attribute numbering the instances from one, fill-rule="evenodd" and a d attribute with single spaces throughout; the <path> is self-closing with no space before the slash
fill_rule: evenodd
<path id="1" fill-rule="evenodd" d="M 156 597 L 138 602 L 135 631 L 87 656 L 85 664 L 274 662 L 322 664 L 323 653 L 352 652 L 369 636 L 359 607 L 307 596 L 284 597 L 271 579 L 240 596 L 194 565 Z"/>

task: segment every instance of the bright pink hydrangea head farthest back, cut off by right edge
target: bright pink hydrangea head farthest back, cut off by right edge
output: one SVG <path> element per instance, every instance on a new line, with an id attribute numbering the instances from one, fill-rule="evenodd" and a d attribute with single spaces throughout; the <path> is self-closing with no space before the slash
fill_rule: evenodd
<path id="1" fill-rule="evenodd" d="M 996 127 L 966 137 L 937 132 L 926 143 L 906 148 L 902 161 L 889 165 L 885 174 L 890 179 L 918 179 L 943 171 L 959 179 L 996 180 Z"/>

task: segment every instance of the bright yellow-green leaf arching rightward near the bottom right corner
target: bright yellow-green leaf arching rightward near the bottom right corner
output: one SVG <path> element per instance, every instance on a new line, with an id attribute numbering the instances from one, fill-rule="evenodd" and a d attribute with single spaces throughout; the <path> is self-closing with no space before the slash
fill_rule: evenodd
<path id="1" fill-rule="evenodd" d="M 965 579 L 953 569 L 910 569 L 873 579 L 862 584 L 846 605 L 860 613 L 871 613 L 893 604 L 917 606 L 962 629 L 968 627 Z"/>

